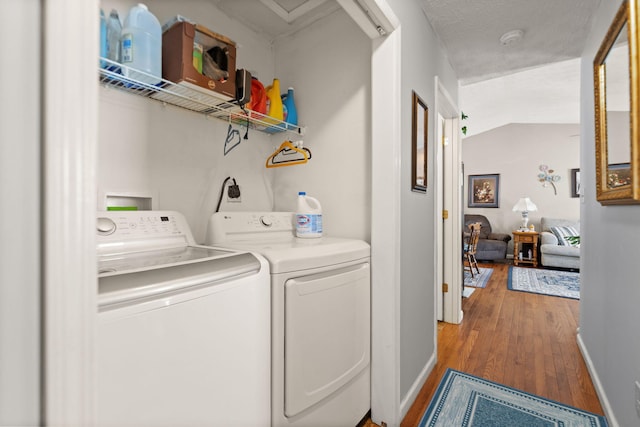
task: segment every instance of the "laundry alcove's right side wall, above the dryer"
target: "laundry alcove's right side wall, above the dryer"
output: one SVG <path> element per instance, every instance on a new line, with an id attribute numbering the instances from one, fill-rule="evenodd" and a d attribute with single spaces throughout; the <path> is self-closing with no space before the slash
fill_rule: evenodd
<path id="1" fill-rule="evenodd" d="M 306 191 L 322 204 L 325 234 L 370 241 L 371 40 L 339 11 L 275 51 L 282 92 L 294 88 L 313 154 L 306 165 L 277 169 L 275 208 L 295 210 Z"/>

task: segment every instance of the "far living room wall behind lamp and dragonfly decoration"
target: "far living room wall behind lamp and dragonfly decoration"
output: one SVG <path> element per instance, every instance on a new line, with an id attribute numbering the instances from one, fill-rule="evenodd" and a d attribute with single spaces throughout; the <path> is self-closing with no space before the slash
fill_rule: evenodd
<path id="1" fill-rule="evenodd" d="M 580 166 L 580 125 L 510 124 L 463 139 L 465 213 L 484 215 L 494 232 L 510 234 L 522 223 L 511 209 L 521 197 L 538 207 L 529 224 L 540 230 L 542 217 L 580 219 L 580 199 L 571 197 L 571 169 Z M 539 166 L 546 164 L 561 179 L 543 187 Z M 469 175 L 500 174 L 499 208 L 468 207 Z"/>

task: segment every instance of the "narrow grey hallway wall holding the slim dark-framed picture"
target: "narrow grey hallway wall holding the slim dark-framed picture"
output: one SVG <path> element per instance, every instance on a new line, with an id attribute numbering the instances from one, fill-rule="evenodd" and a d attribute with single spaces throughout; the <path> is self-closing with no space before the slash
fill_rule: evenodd
<path id="1" fill-rule="evenodd" d="M 435 84 L 438 76 L 454 100 L 458 82 L 435 33 L 417 2 L 389 1 L 402 23 L 401 45 L 401 249 L 400 249 L 400 395 L 405 398 L 435 352 L 433 283 L 435 221 Z M 411 191 L 411 96 L 429 107 L 428 190 Z M 391 161 L 392 159 L 390 159 Z M 391 165 L 390 165 L 391 166 Z M 375 191 L 375 189 L 374 189 Z M 428 374 L 428 372 L 427 372 Z M 409 402 L 411 403 L 411 402 Z M 406 409 L 406 408 L 405 408 Z"/>

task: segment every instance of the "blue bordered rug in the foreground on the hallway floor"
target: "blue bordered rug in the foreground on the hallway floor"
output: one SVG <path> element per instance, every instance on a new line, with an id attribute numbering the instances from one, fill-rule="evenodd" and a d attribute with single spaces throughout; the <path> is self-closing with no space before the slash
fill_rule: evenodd
<path id="1" fill-rule="evenodd" d="M 420 427 L 604 427 L 597 414 L 448 369 Z"/>

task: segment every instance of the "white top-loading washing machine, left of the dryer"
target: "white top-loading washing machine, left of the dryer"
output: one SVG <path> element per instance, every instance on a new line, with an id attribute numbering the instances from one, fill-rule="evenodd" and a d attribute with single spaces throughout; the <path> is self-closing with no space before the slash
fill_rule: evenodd
<path id="1" fill-rule="evenodd" d="M 177 212 L 98 212 L 97 242 L 97 425 L 271 425 L 266 260 Z"/>

